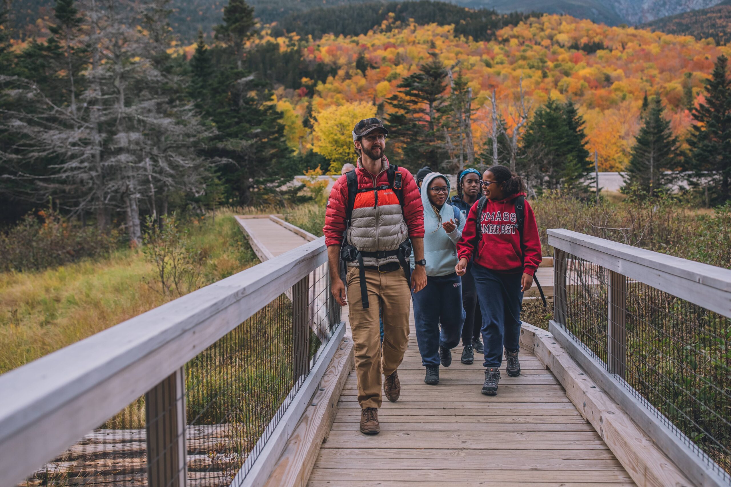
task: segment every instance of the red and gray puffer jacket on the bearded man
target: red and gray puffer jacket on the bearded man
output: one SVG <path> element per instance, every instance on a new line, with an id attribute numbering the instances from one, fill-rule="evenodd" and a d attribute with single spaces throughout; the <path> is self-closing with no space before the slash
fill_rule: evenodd
<path id="1" fill-rule="evenodd" d="M 377 175 L 363 169 L 360 158 L 357 161 L 358 189 L 375 188 L 388 185 L 388 159 L 382 158 L 383 165 Z M 401 184 L 404 188 L 404 212 L 401 204 L 391 189 L 379 189 L 357 193 L 353 204 L 352 220 L 348 229 L 348 242 L 361 252 L 377 250 L 396 250 L 407 237 L 424 237 L 424 210 L 419 188 L 411 172 L 403 167 L 398 170 L 403 174 Z M 325 245 L 342 245 L 345 231 L 346 207 L 348 202 L 347 177 L 338 178 L 325 210 Z M 404 221 L 404 217 L 405 221 Z M 398 256 L 386 258 L 366 257 L 363 265 L 379 266 L 389 262 L 398 262 Z M 357 262 L 349 262 L 348 266 L 356 267 Z"/>

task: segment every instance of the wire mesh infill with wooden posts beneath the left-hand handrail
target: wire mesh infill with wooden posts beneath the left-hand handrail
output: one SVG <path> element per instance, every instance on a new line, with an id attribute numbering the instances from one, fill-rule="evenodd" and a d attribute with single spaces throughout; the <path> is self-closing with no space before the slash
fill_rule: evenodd
<path id="1" fill-rule="evenodd" d="M 329 283 L 317 267 L 21 485 L 238 485 L 340 322 Z"/>

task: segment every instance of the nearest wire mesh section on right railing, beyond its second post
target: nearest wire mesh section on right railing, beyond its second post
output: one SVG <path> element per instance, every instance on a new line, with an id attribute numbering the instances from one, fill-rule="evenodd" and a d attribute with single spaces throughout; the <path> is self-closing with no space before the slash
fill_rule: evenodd
<path id="1" fill-rule="evenodd" d="M 643 283 L 624 286 L 626 386 L 731 473 L 731 320 Z"/>

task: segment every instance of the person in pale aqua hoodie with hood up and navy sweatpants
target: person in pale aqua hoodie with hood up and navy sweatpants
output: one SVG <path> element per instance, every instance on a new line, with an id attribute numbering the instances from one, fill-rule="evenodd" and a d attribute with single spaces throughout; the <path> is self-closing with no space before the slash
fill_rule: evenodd
<path id="1" fill-rule="evenodd" d="M 439 172 L 424 177 L 421 185 L 424 207 L 424 258 L 426 287 L 414 299 L 414 323 L 423 366 L 424 382 L 439 383 L 439 364 L 450 367 L 452 348 L 459 345 L 465 312 L 462 280 L 455 271 L 457 242 L 466 218 L 447 203 L 450 183 Z M 412 257 L 412 267 L 414 266 Z M 441 324 L 441 329 L 440 329 Z"/>

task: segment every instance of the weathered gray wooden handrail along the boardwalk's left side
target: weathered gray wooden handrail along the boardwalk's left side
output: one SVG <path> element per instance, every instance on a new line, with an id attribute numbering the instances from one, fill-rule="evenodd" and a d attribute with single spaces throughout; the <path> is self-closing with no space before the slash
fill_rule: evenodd
<path id="1" fill-rule="evenodd" d="M 140 359 L 191 331 L 197 334 L 193 346 L 181 343 L 179 356 L 159 358 L 167 369 L 135 377 L 135 389 L 153 387 L 326 261 L 325 237 L 320 237 L 0 375 L 0 444 Z M 207 326 L 206 321 L 242 299 L 247 301 L 243 310 Z M 102 421 L 127 403 L 102 412 Z"/>

